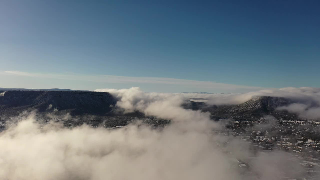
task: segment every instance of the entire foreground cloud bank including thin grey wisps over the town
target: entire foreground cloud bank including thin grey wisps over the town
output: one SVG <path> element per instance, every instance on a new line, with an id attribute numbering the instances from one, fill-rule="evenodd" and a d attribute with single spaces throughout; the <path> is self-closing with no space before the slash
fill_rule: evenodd
<path id="1" fill-rule="evenodd" d="M 150 104 L 152 107 L 153 102 Z M 152 108 L 149 112 L 158 113 Z M 41 119 L 36 121 L 35 113 L 25 113 L 21 121 L 0 133 L 0 179 L 254 179 L 256 174 L 245 174 L 233 160 L 235 156 L 251 156 L 247 143 L 213 135 L 212 128 L 219 125 L 200 114 L 195 111 L 187 117 L 177 113 L 172 116 L 176 121 L 162 130 L 139 122 L 110 130 L 42 124 Z M 201 126 L 202 122 L 207 126 Z M 226 140 L 230 142 L 226 149 L 232 154 L 223 153 L 217 146 Z M 262 180 L 279 179 L 285 173 L 295 175 L 301 167 L 297 163 L 289 168 L 289 158 L 284 152 L 260 154 L 252 161 L 251 171 Z"/>

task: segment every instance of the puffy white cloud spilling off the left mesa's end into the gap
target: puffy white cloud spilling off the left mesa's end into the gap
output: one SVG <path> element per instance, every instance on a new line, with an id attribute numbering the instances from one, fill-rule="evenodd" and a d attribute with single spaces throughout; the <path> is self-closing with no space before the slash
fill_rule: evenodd
<path id="1" fill-rule="evenodd" d="M 171 119 L 175 122 L 197 123 L 199 126 L 212 126 L 210 113 L 200 110 L 193 111 L 181 107 L 181 104 L 188 98 L 183 95 L 166 93 L 144 93 L 139 87 L 130 89 L 97 89 L 105 91 L 117 98 L 116 106 L 123 109 L 125 113 L 140 111 L 147 116 Z"/>

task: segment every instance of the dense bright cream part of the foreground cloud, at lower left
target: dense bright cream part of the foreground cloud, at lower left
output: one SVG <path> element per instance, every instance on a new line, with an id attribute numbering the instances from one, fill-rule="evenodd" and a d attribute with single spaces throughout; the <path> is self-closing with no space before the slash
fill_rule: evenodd
<path id="1" fill-rule="evenodd" d="M 41 127 L 32 115 L 0 134 L 0 178 L 233 179 L 210 136 L 179 127 Z"/>

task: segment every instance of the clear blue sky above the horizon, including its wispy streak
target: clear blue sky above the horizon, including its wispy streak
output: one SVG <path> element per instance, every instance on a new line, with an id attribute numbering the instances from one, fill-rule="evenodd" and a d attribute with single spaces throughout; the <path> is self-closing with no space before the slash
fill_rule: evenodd
<path id="1" fill-rule="evenodd" d="M 320 87 L 319 6 L 311 0 L 1 1 L 0 86 Z"/>

